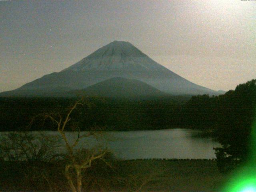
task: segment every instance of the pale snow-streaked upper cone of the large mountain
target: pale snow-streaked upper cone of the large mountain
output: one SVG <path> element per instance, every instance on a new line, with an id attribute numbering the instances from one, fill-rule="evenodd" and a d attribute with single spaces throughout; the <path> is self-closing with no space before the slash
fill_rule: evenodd
<path id="1" fill-rule="evenodd" d="M 113 41 L 64 70 L 156 70 L 159 68 L 163 66 L 154 62 L 130 42 Z"/>

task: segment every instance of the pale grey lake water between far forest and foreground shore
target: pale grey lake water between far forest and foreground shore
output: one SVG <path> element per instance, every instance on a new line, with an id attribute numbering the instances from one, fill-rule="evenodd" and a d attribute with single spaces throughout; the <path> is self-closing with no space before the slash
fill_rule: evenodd
<path id="1" fill-rule="evenodd" d="M 213 147 L 220 144 L 211 138 L 193 137 L 200 130 L 168 129 L 150 131 L 106 132 L 100 143 L 107 146 L 116 157 L 121 159 L 139 158 L 215 158 Z M 44 131 L 34 134 L 56 135 L 58 132 Z M 82 132 L 81 132 L 82 134 Z M 66 132 L 70 142 L 77 134 Z M 96 141 L 86 138 L 80 146 L 94 146 Z M 64 150 L 64 142 L 58 151 Z"/>

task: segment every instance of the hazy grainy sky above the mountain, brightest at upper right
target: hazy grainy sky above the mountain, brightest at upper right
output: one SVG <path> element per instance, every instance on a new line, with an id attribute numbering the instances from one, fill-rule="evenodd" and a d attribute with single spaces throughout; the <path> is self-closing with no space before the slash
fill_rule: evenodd
<path id="1" fill-rule="evenodd" d="M 0 92 L 129 41 L 214 90 L 256 78 L 256 1 L 0 0 Z"/>

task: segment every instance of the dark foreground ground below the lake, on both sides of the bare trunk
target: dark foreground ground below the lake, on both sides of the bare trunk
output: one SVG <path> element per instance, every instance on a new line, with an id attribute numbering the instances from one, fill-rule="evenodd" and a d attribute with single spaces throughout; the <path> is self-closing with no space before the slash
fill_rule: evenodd
<path id="1" fill-rule="evenodd" d="M 217 192 L 227 177 L 218 172 L 214 160 L 127 160 L 115 162 L 112 168 L 102 165 L 95 164 L 84 174 L 84 191 Z M 69 191 L 62 165 L 30 166 L 2 162 L 1 191 Z"/>

